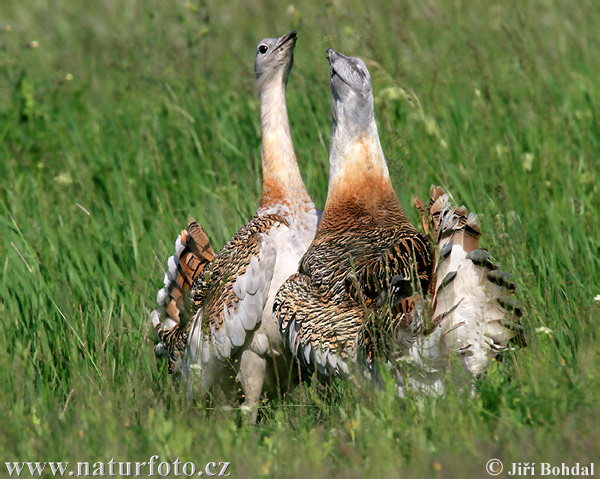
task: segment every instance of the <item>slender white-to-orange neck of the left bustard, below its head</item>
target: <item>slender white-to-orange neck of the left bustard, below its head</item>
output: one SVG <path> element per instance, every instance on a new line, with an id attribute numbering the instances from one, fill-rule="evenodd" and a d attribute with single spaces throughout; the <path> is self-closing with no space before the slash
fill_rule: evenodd
<path id="1" fill-rule="evenodd" d="M 312 204 L 304 183 L 290 135 L 285 80 L 275 74 L 260 87 L 263 190 L 259 209 L 285 205 L 290 210 Z M 314 206 L 313 206 L 314 208 Z"/>

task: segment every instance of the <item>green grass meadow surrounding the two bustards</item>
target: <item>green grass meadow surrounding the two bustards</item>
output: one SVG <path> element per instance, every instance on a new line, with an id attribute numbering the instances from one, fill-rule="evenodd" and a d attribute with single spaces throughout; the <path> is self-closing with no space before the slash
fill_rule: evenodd
<path id="1" fill-rule="evenodd" d="M 229 461 L 233 477 L 445 478 L 488 477 L 491 457 L 598 458 L 596 2 L 299 3 L 0 5 L 1 463 L 159 454 Z M 315 202 L 332 46 L 367 62 L 410 217 L 442 184 L 519 279 L 530 344 L 473 398 L 303 387 L 248 427 L 186 405 L 154 358 L 149 312 L 187 215 L 220 247 L 255 209 L 254 46 L 292 28 L 288 106 Z"/>

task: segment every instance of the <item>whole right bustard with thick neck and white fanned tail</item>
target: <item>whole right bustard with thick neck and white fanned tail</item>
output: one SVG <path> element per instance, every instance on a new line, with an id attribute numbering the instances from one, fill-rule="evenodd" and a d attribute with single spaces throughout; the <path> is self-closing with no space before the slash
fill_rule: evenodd
<path id="1" fill-rule="evenodd" d="M 299 271 L 277 293 L 284 343 L 309 371 L 396 368 L 399 392 L 444 391 L 449 356 L 470 377 L 524 342 L 515 284 L 479 249 L 477 217 L 432 187 L 416 200 L 427 237 L 400 207 L 377 134 L 362 60 L 328 50 L 333 127 L 327 202 Z M 404 367 L 410 364 L 410 367 Z"/>

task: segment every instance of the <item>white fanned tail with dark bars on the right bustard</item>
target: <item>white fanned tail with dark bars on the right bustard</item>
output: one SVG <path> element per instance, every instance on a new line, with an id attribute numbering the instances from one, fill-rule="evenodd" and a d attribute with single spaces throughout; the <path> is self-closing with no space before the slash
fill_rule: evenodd
<path id="1" fill-rule="evenodd" d="M 432 328 L 438 330 L 434 336 L 439 334 L 440 349 L 458 353 L 465 369 L 478 377 L 511 343 L 526 344 L 519 320 L 523 307 L 514 298 L 512 275 L 479 248 L 477 215 L 448 200 L 444 190 L 433 185 L 426 214 L 415 200 L 438 247 L 429 291 Z"/>

